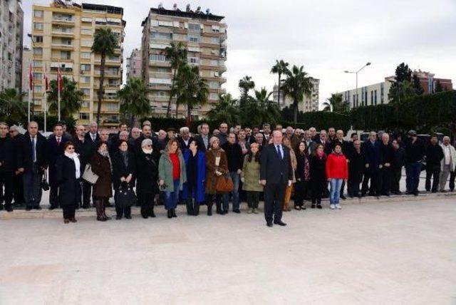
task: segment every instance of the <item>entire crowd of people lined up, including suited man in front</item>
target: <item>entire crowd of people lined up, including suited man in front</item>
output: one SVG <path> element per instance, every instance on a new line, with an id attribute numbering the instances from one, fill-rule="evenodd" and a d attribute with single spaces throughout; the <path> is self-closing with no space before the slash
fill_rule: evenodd
<path id="1" fill-rule="evenodd" d="M 423 169 L 427 191 L 444 191 L 449 176 L 454 190 L 456 150 L 450 138 L 440 144 L 432 135 L 425 143 L 414 130 L 406 140 L 371 132 L 361 143 L 357 133 L 346 140 L 334 128 L 317 133 L 221 123 L 209 133 L 203 123 L 192 135 L 186 127 L 155 133 L 145 121 L 142 130 L 120 124 L 114 133 L 98 130 L 96 123 L 77 125 L 70 135 L 59 122 L 45 138 L 36 122 L 28 123 L 24 135 L 0 123 L 0 207 L 11 212 L 14 200 L 26 210 L 41 210 L 42 190 L 49 189 L 49 209 L 61 207 L 65 223 L 76 222 L 76 210 L 89 208 L 90 200 L 105 222 L 111 197 L 116 219 L 130 219 L 132 205 L 140 205 L 142 217 L 155 217 L 155 202 L 163 203 L 170 219 L 177 217 L 180 202 L 195 216 L 207 205 L 211 216 L 214 204 L 224 215 L 230 202 L 232 212 L 240 213 L 245 200 L 248 213 L 257 214 L 262 197 L 266 224 L 284 226 L 282 212 L 291 210 L 292 198 L 295 210 L 306 210 L 307 200 L 321 209 L 323 197 L 340 210 L 345 188 L 349 197 L 398 195 L 404 166 L 408 195 L 418 195 Z"/>

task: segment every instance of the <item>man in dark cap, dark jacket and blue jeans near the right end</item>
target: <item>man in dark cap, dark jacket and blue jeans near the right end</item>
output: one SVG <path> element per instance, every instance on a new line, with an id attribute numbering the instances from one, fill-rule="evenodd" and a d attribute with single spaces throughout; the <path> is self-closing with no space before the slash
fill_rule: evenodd
<path id="1" fill-rule="evenodd" d="M 408 140 L 405 143 L 405 174 L 407 195 L 418 196 L 418 185 L 420 184 L 421 167 L 423 167 L 423 157 L 425 155 L 425 145 L 419 139 L 415 130 L 408 132 Z"/>

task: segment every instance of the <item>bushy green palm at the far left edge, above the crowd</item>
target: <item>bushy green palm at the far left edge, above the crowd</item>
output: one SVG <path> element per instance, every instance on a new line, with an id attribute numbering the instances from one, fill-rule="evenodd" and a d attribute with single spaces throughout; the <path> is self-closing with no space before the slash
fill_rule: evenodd
<path id="1" fill-rule="evenodd" d="M 24 103 L 25 93 L 19 92 L 14 88 L 6 88 L 0 92 L 0 118 L 19 122 L 24 120 L 27 115 L 26 103 Z"/>

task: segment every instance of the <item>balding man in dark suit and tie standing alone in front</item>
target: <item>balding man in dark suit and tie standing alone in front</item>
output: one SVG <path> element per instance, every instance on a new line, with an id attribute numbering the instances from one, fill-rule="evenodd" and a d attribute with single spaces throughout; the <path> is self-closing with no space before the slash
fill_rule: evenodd
<path id="1" fill-rule="evenodd" d="M 282 145 L 282 133 L 274 130 L 273 143 L 261 150 L 260 182 L 264 185 L 264 218 L 266 225 L 286 226 L 281 221 L 282 206 L 286 185 L 291 185 L 293 171 L 291 169 L 290 150 Z"/>

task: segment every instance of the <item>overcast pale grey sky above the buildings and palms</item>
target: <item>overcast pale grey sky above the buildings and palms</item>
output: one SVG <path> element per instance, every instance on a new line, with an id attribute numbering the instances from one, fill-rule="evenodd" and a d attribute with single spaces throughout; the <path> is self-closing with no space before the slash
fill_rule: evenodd
<path id="1" fill-rule="evenodd" d="M 35 4 L 49 4 L 38 0 Z M 124 57 L 141 41 L 141 21 L 148 6 L 160 1 L 94 0 L 96 4 L 123 6 Z M 79 2 L 78 2 L 79 3 Z M 320 79 L 320 103 L 331 93 L 383 81 L 405 61 L 412 69 L 435 73 L 437 78 L 456 81 L 456 0 L 302 0 L 302 1 L 162 1 L 166 9 L 190 3 L 212 14 L 225 16 L 228 25 L 227 83 L 234 97 L 237 83 L 252 76 L 257 89 L 269 91 L 277 81 L 269 73 L 276 59 L 304 66 L 310 76 Z M 23 1 L 24 45 L 30 42 L 31 1 Z M 125 61 L 124 61 L 125 63 Z M 455 83 L 453 83 L 455 86 Z"/>

